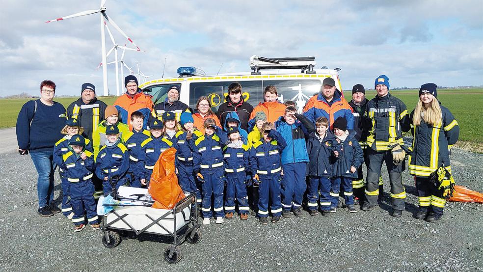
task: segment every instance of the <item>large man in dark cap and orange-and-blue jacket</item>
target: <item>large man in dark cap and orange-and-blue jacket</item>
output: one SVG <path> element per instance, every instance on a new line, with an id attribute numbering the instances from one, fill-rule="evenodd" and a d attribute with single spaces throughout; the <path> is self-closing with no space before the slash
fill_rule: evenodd
<path id="1" fill-rule="evenodd" d="M 352 110 L 344 99 L 342 91 L 336 88 L 335 81 L 332 78 L 323 80 L 320 93 L 312 96 L 303 107 L 303 115 L 314 124 L 319 117 L 325 117 L 329 120 L 330 128 L 332 128 L 335 119 L 344 117 L 347 120 L 348 129 L 354 128 Z"/>

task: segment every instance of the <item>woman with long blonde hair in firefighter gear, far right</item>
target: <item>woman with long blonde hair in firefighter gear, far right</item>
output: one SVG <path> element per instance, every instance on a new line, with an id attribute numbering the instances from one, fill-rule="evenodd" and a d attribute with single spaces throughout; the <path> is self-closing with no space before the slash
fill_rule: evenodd
<path id="1" fill-rule="evenodd" d="M 449 109 L 437 100 L 436 84 L 426 83 L 419 89 L 419 101 L 409 118 L 414 136 L 409 156 L 409 173 L 414 176 L 419 196 L 417 219 L 436 222 L 443 216 L 446 202 L 429 180 L 438 167 L 451 172 L 449 150 L 459 136 L 459 126 Z"/>

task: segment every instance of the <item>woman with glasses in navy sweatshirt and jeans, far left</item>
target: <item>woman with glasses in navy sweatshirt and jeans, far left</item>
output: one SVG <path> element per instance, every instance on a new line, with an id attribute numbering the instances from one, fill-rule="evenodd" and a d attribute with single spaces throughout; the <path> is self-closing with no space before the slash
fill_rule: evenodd
<path id="1" fill-rule="evenodd" d="M 17 117 L 17 142 L 20 155 L 30 153 L 38 173 L 38 213 L 42 217 L 60 213 L 54 205 L 54 146 L 62 138 L 65 125 L 65 108 L 54 102 L 55 83 L 40 84 L 40 99 L 30 100 L 22 106 Z"/>

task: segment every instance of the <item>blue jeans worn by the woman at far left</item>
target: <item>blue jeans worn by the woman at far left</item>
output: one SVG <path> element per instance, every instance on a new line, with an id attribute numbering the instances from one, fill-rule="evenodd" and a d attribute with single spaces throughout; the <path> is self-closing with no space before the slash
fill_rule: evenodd
<path id="1" fill-rule="evenodd" d="M 53 151 L 30 152 L 33 164 L 39 177 L 37 179 L 37 194 L 39 208 L 54 203 L 54 163 Z"/>

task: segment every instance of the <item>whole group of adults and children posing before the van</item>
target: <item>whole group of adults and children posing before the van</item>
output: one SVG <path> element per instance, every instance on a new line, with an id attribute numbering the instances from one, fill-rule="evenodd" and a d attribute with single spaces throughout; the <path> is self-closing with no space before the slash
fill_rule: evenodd
<path id="1" fill-rule="evenodd" d="M 338 207 L 356 213 L 382 201 L 381 167 L 389 172 L 393 217 L 401 217 L 406 193 L 401 173 L 415 176 L 419 211 L 415 218 L 429 222 L 443 215 L 444 188 L 430 175 L 444 167 L 451 173 L 449 150 L 459 127 L 440 105 L 433 83 L 423 84 L 416 109 L 389 93 L 389 79 L 376 78 L 377 95 L 352 88 L 348 103 L 332 78 L 299 114 L 295 103 L 278 101 L 275 86 L 264 90 L 255 108 L 243 100 L 242 85 L 228 87 L 226 102 L 217 112 L 200 97 L 194 113 L 179 101 L 173 85 L 165 101 L 153 105 L 134 76 L 125 78 L 126 93 L 113 106 L 84 83 L 81 97 L 67 110 L 54 102 L 55 83 L 44 81 L 40 99 L 27 102 L 17 119 L 19 153 L 30 153 L 39 174 L 41 216 L 62 212 L 74 231 L 87 223 L 99 229 L 96 198 L 123 185 L 147 187 L 161 153 L 175 148 L 176 174 L 185 193 L 195 193 L 203 224 L 257 216 L 261 224 L 281 217 L 303 217 L 304 199 L 311 216 L 330 216 Z M 411 130 L 414 140 L 404 146 Z M 367 166 L 364 180 L 362 164 Z M 54 169 L 58 166 L 63 200 L 54 205 Z M 344 205 L 339 205 L 339 197 Z M 355 200 L 355 201 L 354 201 Z"/>

